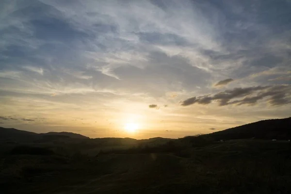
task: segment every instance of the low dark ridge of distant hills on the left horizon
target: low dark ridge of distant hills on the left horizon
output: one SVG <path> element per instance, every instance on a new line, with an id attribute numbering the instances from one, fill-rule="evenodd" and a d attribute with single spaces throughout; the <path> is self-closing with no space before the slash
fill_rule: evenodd
<path id="1" fill-rule="evenodd" d="M 35 140 L 56 140 L 56 139 L 90 139 L 89 137 L 72 132 L 48 132 L 34 133 L 14 128 L 0 127 L 0 141 L 31 142 Z"/>

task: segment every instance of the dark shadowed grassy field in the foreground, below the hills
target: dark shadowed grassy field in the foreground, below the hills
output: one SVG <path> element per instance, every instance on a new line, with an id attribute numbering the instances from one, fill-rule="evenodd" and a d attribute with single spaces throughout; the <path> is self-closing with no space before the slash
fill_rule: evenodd
<path id="1" fill-rule="evenodd" d="M 291 193 L 288 141 L 165 145 L 109 149 L 97 155 L 62 154 L 54 146 L 43 146 L 54 154 L 19 154 L 10 146 L 0 158 L 0 188 L 4 194 Z"/>

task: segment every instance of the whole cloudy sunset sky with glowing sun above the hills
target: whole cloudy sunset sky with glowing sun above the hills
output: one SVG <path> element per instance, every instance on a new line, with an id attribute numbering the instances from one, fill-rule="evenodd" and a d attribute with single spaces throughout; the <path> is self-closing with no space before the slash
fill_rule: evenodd
<path id="1" fill-rule="evenodd" d="M 178 138 L 291 116 L 291 0 L 1 0 L 0 126 Z"/>

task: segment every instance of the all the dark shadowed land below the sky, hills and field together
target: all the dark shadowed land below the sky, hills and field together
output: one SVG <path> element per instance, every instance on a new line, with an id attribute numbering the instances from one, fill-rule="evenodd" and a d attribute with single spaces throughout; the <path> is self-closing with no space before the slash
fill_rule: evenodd
<path id="1" fill-rule="evenodd" d="M 290 194 L 290 126 L 147 140 L 0 128 L 0 193 Z"/>

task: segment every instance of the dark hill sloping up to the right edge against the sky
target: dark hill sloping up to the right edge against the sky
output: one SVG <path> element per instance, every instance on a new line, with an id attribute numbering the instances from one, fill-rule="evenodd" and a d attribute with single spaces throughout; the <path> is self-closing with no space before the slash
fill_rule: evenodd
<path id="1" fill-rule="evenodd" d="M 262 120 L 207 134 L 215 140 L 229 139 L 291 139 L 291 117 Z"/>

